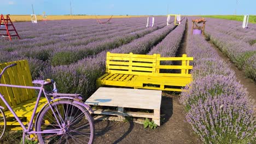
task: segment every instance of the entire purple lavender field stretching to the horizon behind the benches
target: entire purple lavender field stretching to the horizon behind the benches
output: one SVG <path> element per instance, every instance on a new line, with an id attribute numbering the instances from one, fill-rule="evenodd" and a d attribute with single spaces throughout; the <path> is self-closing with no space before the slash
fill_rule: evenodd
<path id="1" fill-rule="evenodd" d="M 184 121 L 202 143 L 253 143 L 255 94 L 242 85 L 231 65 L 255 86 L 256 24 L 243 29 L 241 22 L 207 18 L 206 35 L 193 35 L 193 19 L 183 17 L 178 26 L 171 20 L 166 26 L 165 16 L 155 17 L 149 28 L 147 17 L 113 19 L 106 25 L 96 20 L 16 22 L 22 39 L 0 38 L 0 62 L 28 59 L 33 79 L 54 79 L 61 93 L 81 93 L 86 99 L 105 72 L 107 51 L 161 57 L 185 53 L 194 57 L 194 67 L 193 81 L 176 93 Z"/>

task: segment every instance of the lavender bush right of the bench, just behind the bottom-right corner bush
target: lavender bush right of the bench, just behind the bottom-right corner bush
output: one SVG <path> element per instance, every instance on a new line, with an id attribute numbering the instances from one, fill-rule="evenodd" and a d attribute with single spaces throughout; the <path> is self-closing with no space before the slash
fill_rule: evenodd
<path id="1" fill-rule="evenodd" d="M 190 88 L 190 89 L 189 89 Z M 202 102 L 208 97 L 215 97 L 219 94 L 232 95 L 236 99 L 248 97 L 248 93 L 243 86 L 236 81 L 233 76 L 224 76 L 218 74 L 210 74 L 197 77 L 187 86 L 181 94 L 180 101 L 185 106 L 185 110 L 189 111 L 191 105 L 197 104 L 199 100 Z"/>

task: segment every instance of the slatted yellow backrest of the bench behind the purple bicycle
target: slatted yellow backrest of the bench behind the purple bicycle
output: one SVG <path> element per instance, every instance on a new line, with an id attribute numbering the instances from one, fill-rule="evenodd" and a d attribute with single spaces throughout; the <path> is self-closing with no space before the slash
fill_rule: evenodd
<path id="1" fill-rule="evenodd" d="M 4 72 L 1 83 L 9 85 L 33 86 L 30 68 L 26 60 L 1 63 L 0 70 L 2 71 L 4 67 L 13 63 L 17 63 L 17 65 L 8 68 Z M 16 106 L 35 97 L 34 89 L 0 87 L 0 92 L 2 95 L 4 95 L 4 98 L 11 106 Z M 1 99 L 0 105 L 5 107 L 5 104 Z"/>

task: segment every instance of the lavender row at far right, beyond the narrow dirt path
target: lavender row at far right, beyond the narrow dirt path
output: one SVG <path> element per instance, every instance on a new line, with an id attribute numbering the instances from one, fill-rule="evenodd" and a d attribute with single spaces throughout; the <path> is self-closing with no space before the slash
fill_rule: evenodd
<path id="1" fill-rule="evenodd" d="M 256 81 L 256 45 L 253 44 L 256 43 L 255 29 L 255 24 L 243 29 L 237 25 L 237 22 L 218 19 L 211 19 L 206 27 L 207 37 L 237 65 L 238 69 L 244 70 L 254 81 Z"/>

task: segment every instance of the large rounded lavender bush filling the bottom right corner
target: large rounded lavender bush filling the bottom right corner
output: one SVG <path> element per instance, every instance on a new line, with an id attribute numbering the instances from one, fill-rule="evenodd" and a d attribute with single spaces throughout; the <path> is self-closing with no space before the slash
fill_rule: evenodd
<path id="1" fill-rule="evenodd" d="M 251 143 L 256 129 L 252 105 L 247 97 L 206 95 L 191 105 L 186 118 L 203 143 Z"/>

